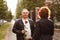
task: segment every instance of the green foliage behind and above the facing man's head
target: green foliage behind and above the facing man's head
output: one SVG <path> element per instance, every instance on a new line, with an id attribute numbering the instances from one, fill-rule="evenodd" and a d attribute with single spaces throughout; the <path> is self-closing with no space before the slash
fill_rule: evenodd
<path id="1" fill-rule="evenodd" d="M 28 10 L 34 10 L 35 7 L 41 7 L 44 5 L 45 0 L 21 0 L 18 1 L 17 4 L 17 11 L 16 11 L 16 17 L 18 18 L 21 14 L 21 10 L 23 8 L 27 8 Z"/>

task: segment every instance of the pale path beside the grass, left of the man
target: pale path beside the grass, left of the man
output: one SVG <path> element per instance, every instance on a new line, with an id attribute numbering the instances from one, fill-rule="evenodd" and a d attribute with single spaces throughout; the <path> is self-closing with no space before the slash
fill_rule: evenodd
<path id="1" fill-rule="evenodd" d="M 5 40 L 16 40 L 16 34 L 14 34 L 12 32 L 14 23 L 15 23 L 15 21 L 12 20 L 10 23 L 10 27 L 7 29 L 7 34 L 6 34 Z"/>

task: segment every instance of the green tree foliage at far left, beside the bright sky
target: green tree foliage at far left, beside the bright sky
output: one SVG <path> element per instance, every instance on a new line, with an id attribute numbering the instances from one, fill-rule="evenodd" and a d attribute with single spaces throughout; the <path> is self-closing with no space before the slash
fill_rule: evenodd
<path id="1" fill-rule="evenodd" d="M 7 3 L 0 0 L 0 19 L 10 21 L 12 19 L 11 11 L 8 11 Z"/>

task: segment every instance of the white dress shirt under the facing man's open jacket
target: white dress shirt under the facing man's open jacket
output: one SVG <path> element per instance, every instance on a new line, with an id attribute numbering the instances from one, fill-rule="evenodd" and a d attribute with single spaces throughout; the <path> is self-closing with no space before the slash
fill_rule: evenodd
<path id="1" fill-rule="evenodd" d="M 26 39 L 31 38 L 31 29 L 30 29 L 30 23 L 28 18 L 26 20 L 22 19 L 23 23 L 24 23 L 24 30 L 26 30 L 27 32 L 25 32 L 26 34 Z M 27 23 L 25 23 L 25 21 L 27 21 Z"/>

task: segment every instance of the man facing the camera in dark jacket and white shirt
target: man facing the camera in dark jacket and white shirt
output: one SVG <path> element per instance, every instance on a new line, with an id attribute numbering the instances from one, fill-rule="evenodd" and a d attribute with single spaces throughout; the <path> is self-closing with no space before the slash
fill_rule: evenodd
<path id="1" fill-rule="evenodd" d="M 23 9 L 21 18 L 17 20 L 13 26 L 13 32 L 16 33 L 17 40 L 31 40 L 34 24 L 33 21 L 28 18 L 29 11 Z"/>

